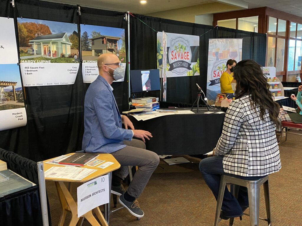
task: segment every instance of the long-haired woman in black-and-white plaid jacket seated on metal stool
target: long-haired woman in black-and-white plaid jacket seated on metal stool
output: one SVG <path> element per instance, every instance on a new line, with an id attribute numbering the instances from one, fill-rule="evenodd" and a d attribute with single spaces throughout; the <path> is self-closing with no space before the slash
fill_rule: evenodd
<path id="1" fill-rule="evenodd" d="M 213 157 L 201 160 L 199 169 L 216 200 L 220 176 L 258 180 L 281 169 L 276 125 L 279 105 L 273 100 L 262 68 L 252 60 L 240 61 L 234 67 L 236 99 L 230 103 L 222 134 Z M 226 188 L 220 218 L 243 215 L 248 208 L 245 187 L 239 187 L 238 199 Z"/>

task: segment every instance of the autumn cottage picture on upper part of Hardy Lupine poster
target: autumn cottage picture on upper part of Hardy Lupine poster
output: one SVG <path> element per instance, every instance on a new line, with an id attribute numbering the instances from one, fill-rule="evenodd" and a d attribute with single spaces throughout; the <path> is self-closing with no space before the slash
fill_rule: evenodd
<path id="1" fill-rule="evenodd" d="M 17 18 L 21 63 L 79 63 L 76 24 Z"/>

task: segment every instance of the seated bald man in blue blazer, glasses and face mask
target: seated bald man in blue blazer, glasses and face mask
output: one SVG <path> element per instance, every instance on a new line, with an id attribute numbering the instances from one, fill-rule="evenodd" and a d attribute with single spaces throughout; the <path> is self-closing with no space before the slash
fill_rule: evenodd
<path id="1" fill-rule="evenodd" d="M 121 180 L 127 177 L 127 167 L 114 171 L 111 193 L 119 195 L 119 202 L 132 215 L 141 218 L 144 212 L 137 198 L 159 164 L 159 157 L 155 152 L 145 149 L 145 139 L 150 140 L 151 133 L 135 130 L 127 116 L 120 115 L 118 111 L 111 84 L 124 77 L 119 58 L 111 53 L 102 54 L 98 58 L 98 69 L 99 76 L 90 84 L 85 95 L 82 150 L 88 153 L 110 153 L 120 165 L 138 166 L 127 191 L 121 185 Z"/>

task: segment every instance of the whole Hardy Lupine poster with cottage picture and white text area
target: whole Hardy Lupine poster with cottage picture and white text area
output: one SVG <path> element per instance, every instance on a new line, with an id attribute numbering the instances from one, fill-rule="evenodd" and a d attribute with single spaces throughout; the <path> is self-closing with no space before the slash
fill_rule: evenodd
<path id="1" fill-rule="evenodd" d="M 79 70 L 77 24 L 17 18 L 24 86 L 69 85 Z"/>

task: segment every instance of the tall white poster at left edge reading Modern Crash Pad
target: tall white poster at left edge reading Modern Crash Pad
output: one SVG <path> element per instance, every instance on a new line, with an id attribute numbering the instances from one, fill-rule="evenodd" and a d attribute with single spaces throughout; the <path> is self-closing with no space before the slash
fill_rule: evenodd
<path id="1" fill-rule="evenodd" d="M 24 96 L 18 66 L 14 19 L 0 17 L 0 131 L 25 126 Z"/>

